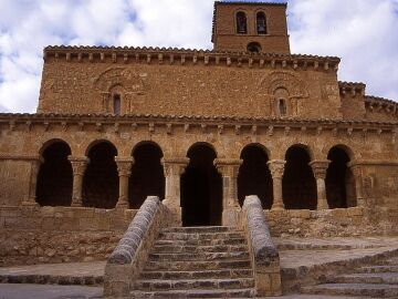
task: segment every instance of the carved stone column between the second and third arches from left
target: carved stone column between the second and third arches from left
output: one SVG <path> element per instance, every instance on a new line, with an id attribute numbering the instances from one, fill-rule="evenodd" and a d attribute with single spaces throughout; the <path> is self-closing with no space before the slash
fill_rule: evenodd
<path id="1" fill-rule="evenodd" d="M 119 197 L 117 208 L 128 208 L 128 178 L 132 175 L 133 157 L 115 157 L 119 176 Z"/>

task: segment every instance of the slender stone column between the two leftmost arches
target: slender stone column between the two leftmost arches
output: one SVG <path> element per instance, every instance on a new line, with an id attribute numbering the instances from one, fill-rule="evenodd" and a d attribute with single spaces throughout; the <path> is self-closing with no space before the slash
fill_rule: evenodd
<path id="1" fill-rule="evenodd" d="M 72 190 L 72 207 L 83 206 L 82 202 L 82 187 L 84 172 L 90 163 L 90 159 L 85 156 L 75 157 L 69 156 L 73 169 L 73 190 Z"/>

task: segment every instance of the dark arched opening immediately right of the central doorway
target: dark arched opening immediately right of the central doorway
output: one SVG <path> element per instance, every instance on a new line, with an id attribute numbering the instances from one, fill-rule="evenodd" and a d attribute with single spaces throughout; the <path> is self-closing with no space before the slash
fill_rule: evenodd
<path id="1" fill-rule="evenodd" d="M 262 144 L 252 143 L 244 146 L 240 158 L 243 159 L 238 174 L 238 198 L 242 206 L 244 197 L 258 195 L 262 206 L 270 209 L 273 202 L 271 172 L 266 165 L 269 151 Z"/>

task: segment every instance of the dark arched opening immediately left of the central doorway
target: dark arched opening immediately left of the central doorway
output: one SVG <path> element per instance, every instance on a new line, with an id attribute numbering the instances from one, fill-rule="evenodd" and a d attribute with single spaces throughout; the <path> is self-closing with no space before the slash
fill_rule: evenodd
<path id="1" fill-rule="evenodd" d="M 130 208 L 139 208 L 147 196 L 165 198 L 164 156 L 160 146 L 151 141 L 136 144 L 132 151 L 134 164 L 128 184 Z"/>

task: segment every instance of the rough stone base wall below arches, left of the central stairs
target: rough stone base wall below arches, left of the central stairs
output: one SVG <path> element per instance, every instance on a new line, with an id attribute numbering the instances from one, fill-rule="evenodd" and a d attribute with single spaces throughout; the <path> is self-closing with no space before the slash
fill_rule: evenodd
<path id="1" fill-rule="evenodd" d="M 0 266 L 106 259 L 135 213 L 1 207 Z"/>

